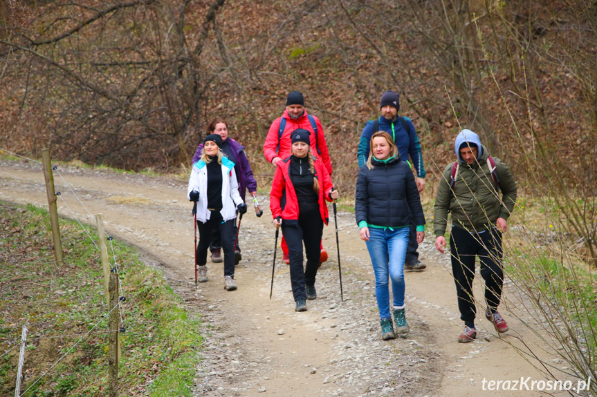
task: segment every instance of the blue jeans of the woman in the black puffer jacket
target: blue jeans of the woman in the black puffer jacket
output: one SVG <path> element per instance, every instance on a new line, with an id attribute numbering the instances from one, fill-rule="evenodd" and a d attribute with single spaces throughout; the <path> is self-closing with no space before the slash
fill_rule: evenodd
<path id="1" fill-rule="evenodd" d="M 408 244 L 408 228 L 369 228 L 367 250 L 375 273 L 375 296 L 379 318 L 391 318 L 389 311 L 389 279 L 392 280 L 394 306 L 404 305 L 404 259 Z"/>

